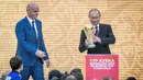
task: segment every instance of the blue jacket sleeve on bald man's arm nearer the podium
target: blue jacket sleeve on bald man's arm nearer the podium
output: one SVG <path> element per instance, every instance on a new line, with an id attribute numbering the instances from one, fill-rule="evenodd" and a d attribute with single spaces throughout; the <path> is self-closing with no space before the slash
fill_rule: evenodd
<path id="1" fill-rule="evenodd" d="M 46 55 L 46 57 L 44 57 L 43 59 L 46 60 L 48 59 L 48 55 L 47 55 L 47 50 L 46 50 L 46 47 L 45 47 L 45 44 L 44 44 L 44 39 L 43 39 L 43 33 L 42 33 L 42 22 L 41 22 L 41 44 L 40 44 L 40 50 L 43 50 Z"/>

